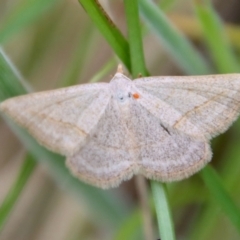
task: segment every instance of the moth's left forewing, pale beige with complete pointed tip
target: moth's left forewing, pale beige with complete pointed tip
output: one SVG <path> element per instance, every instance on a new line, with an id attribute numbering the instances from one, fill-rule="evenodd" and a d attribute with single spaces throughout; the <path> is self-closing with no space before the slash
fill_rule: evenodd
<path id="1" fill-rule="evenodd" d="M 107 83 L 83 84 L 14 97 L 2 102 L 0 109 L 40 144 L 71 155 L 84 144 L 109 99 Z"/>

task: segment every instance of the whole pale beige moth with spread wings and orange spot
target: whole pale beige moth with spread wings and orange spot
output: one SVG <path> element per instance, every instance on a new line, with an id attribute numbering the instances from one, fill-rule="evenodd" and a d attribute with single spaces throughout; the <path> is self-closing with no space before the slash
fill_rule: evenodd
<path id="1" fill-rule="evenodd" d="M 0 104 L 79 179 L 101 188 L 135 174 L 177 181 L 212 157 L 240 112 L 240 74 L 142 77 L 27 94 Z"/>

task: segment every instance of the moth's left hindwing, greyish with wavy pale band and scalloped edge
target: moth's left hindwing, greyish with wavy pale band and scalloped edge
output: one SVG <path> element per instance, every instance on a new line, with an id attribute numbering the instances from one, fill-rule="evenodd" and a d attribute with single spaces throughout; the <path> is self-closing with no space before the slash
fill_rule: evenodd
<path id="1" fill-rule="evenodd" d="M 86 144 L 67 158 L 74 175 L 94 186 L 110 188 L 138 172 L 125 119 L 126 113 L 110 100 Z"/>

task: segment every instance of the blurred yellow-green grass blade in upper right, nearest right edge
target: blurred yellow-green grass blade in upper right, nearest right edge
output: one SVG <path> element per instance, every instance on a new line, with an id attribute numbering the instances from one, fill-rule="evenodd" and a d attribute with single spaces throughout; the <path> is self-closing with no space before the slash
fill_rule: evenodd
<path id="1" fill-rule="evenodd" d="M 204 4 L 196 1 L 195 6 L 203 36 L 218 71 L 220 73 L 239 72 L 240 66 L 225 34 L 224 26 L 210 2 L 207 1 L 207 4 Z"/>

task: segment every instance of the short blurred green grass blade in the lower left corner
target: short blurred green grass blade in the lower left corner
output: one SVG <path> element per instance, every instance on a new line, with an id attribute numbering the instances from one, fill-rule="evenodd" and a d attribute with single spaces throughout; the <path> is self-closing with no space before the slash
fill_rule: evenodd
<path id="1" fill-rule="evenodd" d="M 36 166 L 36 162 L 31 155 L 28 155 L 20 169 L 19 175 L 16 178 L 13 186 L 8 192 L 0 207 L 0 232 L 6 223 L 15 203 L 17 202 L 20 194 L 22 193 L 26 183 L 28 182 L 31 174 Z"/>

